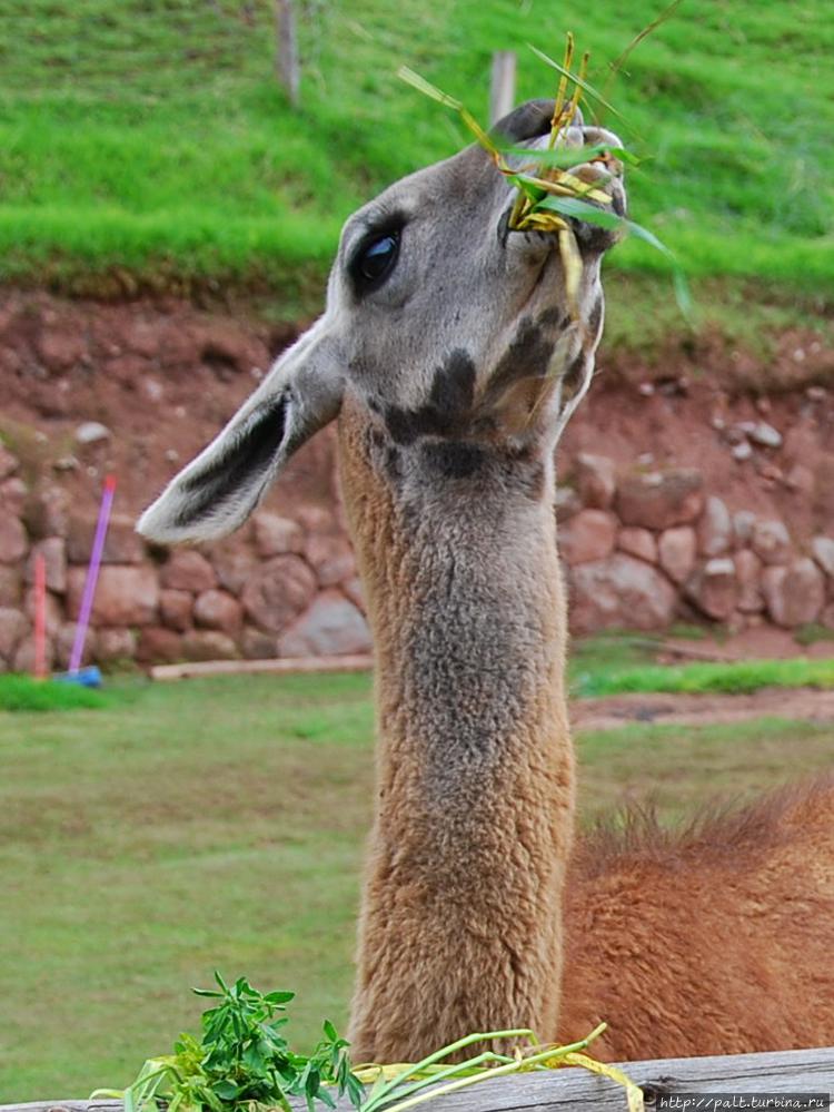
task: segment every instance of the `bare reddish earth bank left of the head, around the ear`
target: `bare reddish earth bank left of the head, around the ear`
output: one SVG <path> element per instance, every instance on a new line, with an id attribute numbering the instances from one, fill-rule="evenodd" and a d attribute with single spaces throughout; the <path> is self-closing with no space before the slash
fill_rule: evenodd
<path id="1" fill-rule="evenodd" d="M 219 432 L 298 331 L 176 299 L 100 304 L 7 289 L 0 433 L 29 482 L 62 486 L 85 508 L 113 473 L 118 509 L 136 513 Z M 109 435 L 79 443 L 89 422 Z M 290 508 L 329 502 L 332 481 L 331 437 L 317 437 L 285 472 L 280 499 Z"/>

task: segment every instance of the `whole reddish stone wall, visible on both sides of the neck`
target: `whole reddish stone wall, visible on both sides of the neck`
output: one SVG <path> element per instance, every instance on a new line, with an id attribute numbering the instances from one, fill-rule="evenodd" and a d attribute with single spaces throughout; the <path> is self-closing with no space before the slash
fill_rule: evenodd
<path id="1" fill-rule="evenodd" d="M 662 630 L 677 618 L 742 629 L 834 628 L 834 540 L 731 512 L 695 469 L 628 471 L 579 453 L 556 505 L 575 632 Z M 32 666 L 36 553 L 47 569 L 48 655 L 66 668 L 95 514 L 30 485 L 0 447 L 0 669 Z M 831 600 L 831 601 L 830 601 Z M 103 666 L 305 657 L 370 648 L 338 506 L 258 511 L 229 541 L 167 552 L 113 516 L 87 660 Z"/>

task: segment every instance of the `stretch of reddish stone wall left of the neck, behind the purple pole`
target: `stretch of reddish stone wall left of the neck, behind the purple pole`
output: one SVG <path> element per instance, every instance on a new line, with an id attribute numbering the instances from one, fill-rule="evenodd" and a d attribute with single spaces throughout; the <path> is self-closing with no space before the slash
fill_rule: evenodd
<path id="1" fill-rule="evenodd" d="M 47 570 L 50 667 L 67 667 L 96 515 L 59 486 L 30 490 L 0 447 L 0 670 L 33 663 L 36 553 Z M 367 652 L 350 544 L 332 509 L 259 511 L 230 541 L 157 549 L 133 518 L 110 522 L 86 662 L 106 667 Z"/>

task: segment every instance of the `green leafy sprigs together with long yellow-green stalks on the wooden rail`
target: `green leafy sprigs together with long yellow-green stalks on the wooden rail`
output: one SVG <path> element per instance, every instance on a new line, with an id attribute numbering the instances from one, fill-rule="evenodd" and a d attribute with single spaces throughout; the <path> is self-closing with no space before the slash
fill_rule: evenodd
<path id="1" fill-rule="evenodd" d="M 406 1112 L 435 1096 L 457 1092 L 488 1077 L 576 1065 L 623 1085 L 629 1112 L 642 1112 L 643 1094 L 622 1071 L 583 1053 L 605 1030 L 565 1046 L 540 1044 L 527 1027 L 466 1035 L 420 1062 L 353 1067 L 348 1043 L 329 1021 L 311 1054 L 297 1054 L 284 1035 L 286 1004 L 291 992 L 261 993 L 246 977 L 227 985 L 215 973 L 218 988 L 195 988 L 198 996 L 217 1000 L 202 1013 L 202 1040 L 182 1034 L 173 1053 L 148 1059 L 139 1076 L 123 1091 L 99 1089 L 90 1098 L 118 1098 L 125 1112 L 258 1112 L 280 1108 L 290 1112 L 289 1098 L 301 1098 L 309 1112 L 316 1101 L 336 1106 L 347 1096 L 360 1112 Z M 485 1045 L 512 1046 L 506 1053 Z M 449 1063 L 468 1047 L 474 1056 Z M 370 1092 L 366 1092 L 366 1084 Z"/>

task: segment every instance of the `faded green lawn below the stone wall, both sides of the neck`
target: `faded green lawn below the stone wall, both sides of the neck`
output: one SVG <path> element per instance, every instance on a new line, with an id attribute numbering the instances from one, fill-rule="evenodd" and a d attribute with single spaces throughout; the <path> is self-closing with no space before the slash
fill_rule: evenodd
<path id="1" fill-rule="evenodd" d="M 111 685 L 0 714 L 0 1102 L 122 1085 L 215 967 L 344 1026 L 371 798 L 367 676 Z M 834 762 L 834 726 L 627 727 L 579 739 L 587 821 L 674 818 Z"/>

